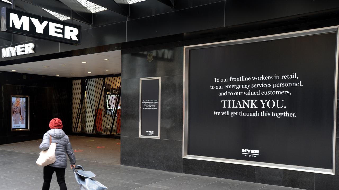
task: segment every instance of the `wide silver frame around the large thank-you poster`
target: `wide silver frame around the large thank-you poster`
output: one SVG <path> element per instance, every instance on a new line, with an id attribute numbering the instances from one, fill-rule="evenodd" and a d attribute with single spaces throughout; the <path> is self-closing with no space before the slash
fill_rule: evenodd
<path id="1" fill-rule="evenodd" d="M 205 161 L 214 161 L 214 162 L 224 162 L 232 164 L 242 164 L 242 165 L 251 165 L 259 167 L 269 167 L 269 168 L 279 168 L 287 170 L 297 170 L 313 173 L 322 173 L 322 174 L 335 174 L 335 156 L 336 156 L 336 120 L 337 120 L 337 85 L 338 85 L 338 51 L 339 51 L 339 26 L 331 26 L 325 28 L 317 28 L 311 30 L 303 30 L 297 32 L 281 33 L 275 35 L 266 35 L 254 38 L 246 38 L 239 40 L 231 40 L 224 42 L 208 43 L 208 44 L 198 44 L 192 46 L 184 46 L 184 81 L 183 81 L 183 146 L 182 146 L 182 158 L 185 159 L 195 159 L 195 160 L 205 160 Z M 224 159 L 224 158 L 212 158 L 204 156 L 195 156 L 188 155 L 188 65 L 189 65 L 189 53 L 191 49 L 200 49 L 208 47 L 218 47 L 218 46 L 228 46 L 235 44 L 246 44 L 253 42 L 263 42 L 270 40 L 286 39 L 301 37 L 307 35 L 316 35 L 324 33 L 337 33 L 336 39 L 336 55 L 335 55 L 335 82 L 334 82 L 334 105 L 333 105 L 333 152 L 332 152 L 332 169 L 323 169 L 323 168 L 313 168 L 313 167 L 304 167 L 304 166 L 294 166 L 294 165 L 285 165 L 285 164 L 274 164 L 274 163 L 264 163 L 264 162 L 255 162 L 255 161 L 245 161 L 245 160 L 233 160 L 233 159 Z"/>

